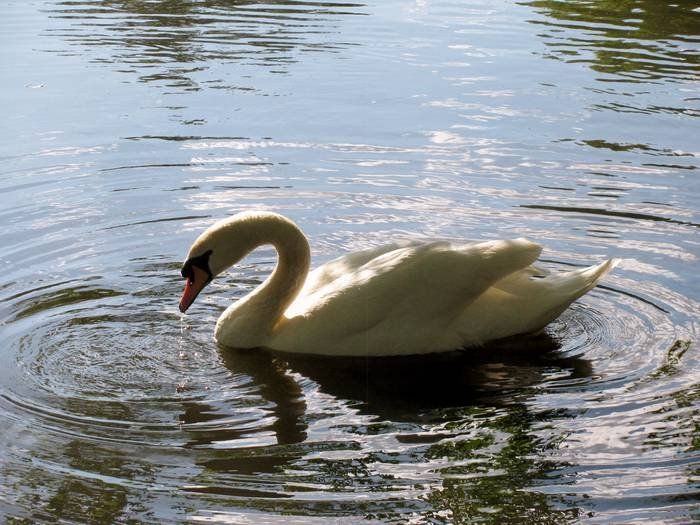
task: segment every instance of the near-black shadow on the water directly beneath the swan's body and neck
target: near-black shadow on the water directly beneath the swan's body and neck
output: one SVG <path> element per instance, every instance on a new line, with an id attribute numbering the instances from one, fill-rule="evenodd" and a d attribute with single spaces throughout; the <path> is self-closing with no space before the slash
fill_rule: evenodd
<path id="1" fill-rule="evenodd" d="M 303 414 L 303 392 L 293 386 L 292 374 L 312 380 L 336 399 L 360 402 L 360 413 L 410 419 L 431 410 L 498 405 L 499 400 L 509 404 L 541 382 L 544 369 L 568 370 L 570 379 L 591 375 L 589 361 L 561 356 L 559 349 L 543 333 L 423 356 L 339 358 L 223 348 L 221 354 L 232 373 L 247 374 L 261 385 L 261 394 L 279 407 L 278 419 L 292 423 L 290 414 Z"/>

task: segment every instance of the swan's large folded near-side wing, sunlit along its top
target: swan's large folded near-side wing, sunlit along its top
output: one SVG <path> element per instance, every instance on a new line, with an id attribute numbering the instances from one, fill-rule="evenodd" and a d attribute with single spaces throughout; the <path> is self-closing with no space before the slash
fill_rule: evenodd
<path id="1" fill-rule="evenodd" d="M 365 254 L 364 264 L 347 265 L 347 272 L 325 285 L 305 287 L 285 314 L 273 348 L 345 355 L 424 351 L 466 305 L 529 266 L 540 251 L 516 239 L 413 244 L 372 258 Z"/>

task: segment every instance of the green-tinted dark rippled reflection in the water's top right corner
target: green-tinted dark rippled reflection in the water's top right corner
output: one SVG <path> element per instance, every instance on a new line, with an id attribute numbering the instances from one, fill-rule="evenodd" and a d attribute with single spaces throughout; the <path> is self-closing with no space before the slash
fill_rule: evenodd
<path id="1" fill-rule="evenodd" d="M 700 67 L 700 12 L 695 2 L 568 2 L 535 0 L 523 5 L 546 18 L 541 25 L 547 58 L 585 63 L 626 82 L 693 81 Z"/>

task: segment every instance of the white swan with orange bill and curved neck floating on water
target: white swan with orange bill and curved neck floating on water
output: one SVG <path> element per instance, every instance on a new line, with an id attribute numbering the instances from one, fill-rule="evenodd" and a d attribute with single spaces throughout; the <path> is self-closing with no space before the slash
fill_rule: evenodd
<path id="1" fill-rule="evenodd" d="M 548 275 L 526 239 L 398 241 L 350 253 L 309 273 L 299 227 L 272 212 L 216 222 L 182 266 L 184 313 L 212 279 L 261 245 L 272 274 L 219 317 L 224 347 L 335 356 L 427 354 L 536 332 L 595 287 L 615 259 Z"/>

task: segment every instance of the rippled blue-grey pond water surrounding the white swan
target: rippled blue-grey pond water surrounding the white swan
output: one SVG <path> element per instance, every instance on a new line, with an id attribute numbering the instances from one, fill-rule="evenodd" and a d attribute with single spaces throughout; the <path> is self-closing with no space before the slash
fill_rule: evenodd
<path id="1" fill-rule="evenodd" d="M 700 4 L 1 8 L 8 523 L 700 517 Z M 179 267 L 273 209 L 315 264 L 388 237 L 620 257 L 541 336 L 430 359 L 226 351 Z"/>

